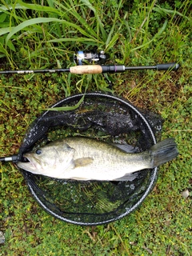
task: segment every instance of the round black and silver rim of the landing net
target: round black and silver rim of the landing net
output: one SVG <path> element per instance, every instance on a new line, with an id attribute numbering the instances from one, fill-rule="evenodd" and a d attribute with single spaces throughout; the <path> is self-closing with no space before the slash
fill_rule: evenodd
<path id="1" fill-rule="evenodd" d="M 74 94 L 70 97 L 67 97 L 67 98 L 64 98 L 62 99 L 61 101 L 59 102 L 56 102 L 53 106 L 51 106 L 52 108 L 53 107 L 59 107 L 59 106 L 62 106 L 63 104 L 66 104 L 68 102 L 73 102 L 73 101 L 79 101 L 82 97 L 85 97 L 85 98 L 108 98 L 110 100 L 114 100 L 115 102 L 119 102 L 127 107 L 129 107 L 131 110 L 133 110 L 136 114 L 138 114 L 138 116 L 140 118 L 142 118 L 142 121 L 145 122 L 146 126 L 147 126 L 147 129 L 149 130 L 150 132 L 150 135 L 151 135 L 151 138 L 152 138 L 152 141 L 154 144 L 156 144 L 156 138 L 155 138 L 155 135 L 154 135 L 154 131 L 153 129 L 151 128 L 150 126 L 150 123 L 147 121 L 147 119 L 145 118 L 145 116 L 138 110 L 137 107 L 135 107 L 133 104 L 131 104 L 129 101 L 125 100 L 125 99 L 122 99 L 122 98 L 119 98 L 119 97 L 116 97 L 112 94 L 104 94 L 104 93 L 100 93 L 100 92 L 91 92 L 91 93 L 86 93 L 86 94 Z M 41 119 L 41 118 L 44 118 L 46 116 L 46 114 L 48 114 L 51 110 L 46 110 L 46 112 L 44 112 L 39 118 L 37 119 Z M 26 183 L 29 187 L 29 190 L 30 190 L 30 193 L 34 196 L 35 200 L 38 202 L 38 204 L 40 206 L 42 206 L 43 210 L 46 210 L 46 212 L 48 212 L 49 214 L 51 214 L 52 216 L 54 216 L 54 218 L 58 218 L 59 220 L 63 221 L 63 222 L 69 222 L 71 224 L 76 224 L 76 225 L 81 225 L 81 226 L 98 226 L 98 225 L 103 225 L 103 224 L 106 224 L 106 223 L 110 223 L 110 222 L 114 222 L 118 219 L 121 219 L 123 217 L 125 217 L 126 215 L 132 213 L 134 210 L 136 210 L 138 208 L 138 206 L 141 206 L 142 202 L 146 199 L 147 195 L 150 194 L 150 191 L 153 190 L 156 182 L 157 182 L 157 179 L 158 179 L 158 167 L 155 167 L 154 169 L 152 169 L 150 171 L 150 184 L 149 186 L 146 188 L 146 191 L 145 193 L 142 195 L 142 198 L 140 198 L 140 200 L 134 204 L 134 206 L 132 206 L 131 208 L 129 209 L 126 209 L 126 212 L 123 213 L 123 214 L 120 214 L 119 216 L 116 216 L 115 218 L 110 218 L 110 219 L 107 219 L 107 220 L 104 220 L 104 221 L 101 221 L 101 222 L 82 222 L 82 221 L 74 221 L 72 219 L 69 219 L 69 218 L 64 218 L 62 217 L 61 215 L 59 214 L 56 214 L 54 213 L 53 210 L 51 210 L 49 207 L 47 207 L 42 201 L 41 199 L 38 197 L 38 194 L 35 193 L 35 190 L 34 190 L 34 182 L 31 180 L 30 178 L 30 174 L 28 172 L 26 172 L 25 170 L 22 170 L 22 174 L 24 176 L 24 178 L 26 179 Z"/>

